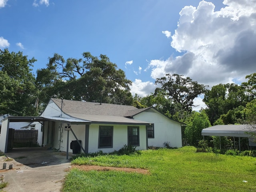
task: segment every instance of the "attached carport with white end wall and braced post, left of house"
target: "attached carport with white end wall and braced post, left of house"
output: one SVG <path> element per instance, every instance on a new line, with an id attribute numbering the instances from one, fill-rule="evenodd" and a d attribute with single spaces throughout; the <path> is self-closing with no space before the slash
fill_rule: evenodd
<path id="1" fill-rule="evenodd" d="M 0 133 L 0 150 L 4 153 L 7 153 L 8 150 L 8 134 L 9 134 L 9 124 L 10 122 L 46 122 L 46 121 L 54 121 L 54 122 L 62 122 L 68 125 L 78 125 L 78 124 L 84 124 L 86 125 L 86 128 L 89 124 L 91 124 L 90 121 L 87 120 L 80 120 L 75 118 L 60 118 L 60 117 L 40 117 L 40 116 L 7 116 L 4 118 L 2 122 L 2 128 Z M 67 131 L 71 131 L 73 134 L 73 130 L 70 126 L 67 127 Z M 74 134 L 74 137 L 78 141 L 76 135 Z M 68 138 L 67 138 L 68 139 Z M 67 142 L 68 143 L 68 142 Z M 86 153 L 86 149 L 83 148 L 81 143 L 78 141 L 78 144 L 82 148 L 82 150 Z M 67 158 L 68 158 L 68 145 L 67 145 Z"/>

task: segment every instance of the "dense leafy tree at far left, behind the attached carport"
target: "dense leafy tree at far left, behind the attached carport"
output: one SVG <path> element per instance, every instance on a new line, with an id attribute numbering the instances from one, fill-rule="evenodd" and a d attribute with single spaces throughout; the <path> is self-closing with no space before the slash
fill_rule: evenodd
<path id="1" fill-rule="evenodd" d="M 34 107 L 38 96 L 32 74 L 34 58 L 28 59 L 22 52 L 0 52 L 0 114 L 37 115 Z"/>

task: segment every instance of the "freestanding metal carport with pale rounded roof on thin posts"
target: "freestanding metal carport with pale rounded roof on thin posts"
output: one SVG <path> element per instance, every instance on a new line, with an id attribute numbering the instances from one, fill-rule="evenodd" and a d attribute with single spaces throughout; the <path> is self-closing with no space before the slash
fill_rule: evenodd
<path id="1" fill-rule="evenodd" d="M 238 137 L 239 139 L 239 151 L 241 151 L 240 137 L 249 138 L 249 146 L 256 146 L 252 138 L 252 134 L 256 134 L 255 126 L 248 124 L 244 125 L 215 125 L 212 127 L 204 128 L 201 132 L 202 136 L 226 136 L 226 137 Z M 220 142 L 221 148 L 221 142 Z"/>

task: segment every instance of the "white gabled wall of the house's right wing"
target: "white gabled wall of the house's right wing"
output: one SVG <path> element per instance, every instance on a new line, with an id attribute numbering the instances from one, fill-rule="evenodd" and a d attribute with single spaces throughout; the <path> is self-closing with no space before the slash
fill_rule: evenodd
<path id="1" fill-rule="evenodd" d="M 154 123 L 154 138 L 148 138 L 148 146 L 164 147 L 164 142 L 170 142 L 170 147 L 182 147 L 180 123 L 159 112 L 144 111 L 134 116 L 134 119 Z"/>

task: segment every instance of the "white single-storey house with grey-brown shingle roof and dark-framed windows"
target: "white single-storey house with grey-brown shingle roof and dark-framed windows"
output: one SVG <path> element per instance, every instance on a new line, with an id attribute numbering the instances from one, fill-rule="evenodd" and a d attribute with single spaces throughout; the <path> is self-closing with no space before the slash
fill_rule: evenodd
<path id="1" fill-rule="evenodd" d="M 112 152 L 124 144 L 132 144 L 136 150 L 148 146 L 182 147 L 181 126 L 184 124 L 154 107 L 137 109 L 51 98 L 41 116 L 29 118 L 43 122 L 42 144 L 63 152 L 72 150 L 72 141 L 79 141 L 81 152 L 85 153 Z"/>

